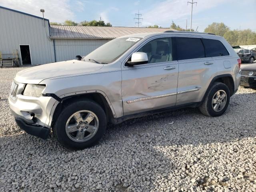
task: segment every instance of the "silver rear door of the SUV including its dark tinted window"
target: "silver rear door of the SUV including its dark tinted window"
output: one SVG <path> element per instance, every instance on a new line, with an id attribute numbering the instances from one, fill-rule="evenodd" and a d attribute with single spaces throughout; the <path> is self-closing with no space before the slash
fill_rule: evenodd
<path id="1" fill-rule="evenodd" d="M 200 102 L 217 66 L 212 57 L 205 57 L 202 38 L 175 39 L 179 64 L 176 105 Z"/>

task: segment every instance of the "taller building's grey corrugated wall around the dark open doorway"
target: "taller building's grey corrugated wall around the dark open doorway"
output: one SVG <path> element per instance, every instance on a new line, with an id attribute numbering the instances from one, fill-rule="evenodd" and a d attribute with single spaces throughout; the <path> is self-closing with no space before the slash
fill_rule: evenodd
<path id="1" fill-rule="evenodd" d="M 48 22 L 0 8 L 0 52 L 12 53 L 20 44 L 29 44 L 33 65 L 54 62 L 53 40 L 49 40 Z"/>

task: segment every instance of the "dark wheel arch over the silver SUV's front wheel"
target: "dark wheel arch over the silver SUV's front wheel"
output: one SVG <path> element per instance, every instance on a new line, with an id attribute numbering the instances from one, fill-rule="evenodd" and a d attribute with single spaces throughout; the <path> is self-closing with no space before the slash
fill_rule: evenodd
<path id="1" fill-rule="evenodd" d="M 65 107 L 65 105 L 74 101 L 85 100 L 85 99 L 93 100 L 94 102 L 98 103 L 106 113 L 106 118 L 108 122 L 110 122 L 110 119 L 116 116 L 114 109 L 112 108 L 112 105 L 105 94 L 102 94 L 99 91 L 94 91 L 94 92 L 88 91 L 82 94 L 74 93 L 68 96 L 65 95 L 63 98 L 60 98 L 60 102 L 57 104 L 56 108 L 54 109 L 50 126 L 52 127 L 54 125 L 56 118 L 58 117 L 62 109 Z"/>

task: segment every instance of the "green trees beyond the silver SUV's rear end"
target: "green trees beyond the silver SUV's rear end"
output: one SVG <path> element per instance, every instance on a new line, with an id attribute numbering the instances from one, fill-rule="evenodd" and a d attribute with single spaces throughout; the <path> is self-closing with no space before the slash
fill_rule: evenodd
<path id="1" fill-rule="evenodd" d="M 204 32 L 224 36 L 231 45 L 255 45 L 256 32 L 250 29 L 230 30 L 224 23 L 212 23 L 205 28 Z"/>

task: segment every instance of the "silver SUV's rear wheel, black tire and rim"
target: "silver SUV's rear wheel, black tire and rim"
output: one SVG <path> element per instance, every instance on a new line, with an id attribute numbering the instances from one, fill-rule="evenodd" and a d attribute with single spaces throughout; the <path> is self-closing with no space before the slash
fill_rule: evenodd
<path id="1" fill-rule="evenodd" d="M 218 92 L 220 92 L 220 96 L 222 96 L 222 94 L 225 95 L 225 97 L 223 96 L 223 98 L 226 98 L 225 101 L 224 99 L 222 100 L 221 97 L 218 98 L 217 100 Z M 212 104 L 213 101 L 216 101 L 216 104 Z M 222 102 L 220 103 L 220 101 Z M 204 101 L 200 105 L 199 109 L 202 112 L 202 114 L 206 116 L 211 116 L 211 117 L 221 116 L 228 108 L 229 101 L 230 101 L 230 91 L 228 86 L 226 86 L 224 83 L 215 82 L 211 86 L 210 90 L 208 90 L 208 92 L 206 93 Z M 214 107 L 218 107 L 218 108 L 214 109 Z"/>

